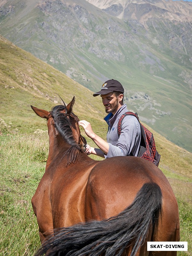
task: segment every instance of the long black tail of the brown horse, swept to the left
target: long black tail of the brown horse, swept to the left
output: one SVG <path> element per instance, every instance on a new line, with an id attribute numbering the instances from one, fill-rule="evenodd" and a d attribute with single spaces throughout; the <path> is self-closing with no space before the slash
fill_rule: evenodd
<path id="1" fill-rule="evenodd" d="M 134 256 L 145 242 L 148 229 L 158 221 L 162 193 L 155 183 L 146 183 L 133 203 L 116 217 L 59 229 L 44 242 L 36 256 L 120 256 L 130 245 Z"/>

